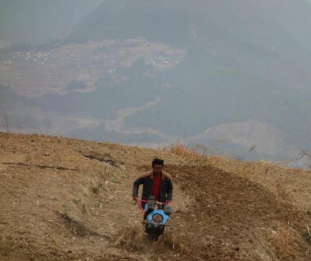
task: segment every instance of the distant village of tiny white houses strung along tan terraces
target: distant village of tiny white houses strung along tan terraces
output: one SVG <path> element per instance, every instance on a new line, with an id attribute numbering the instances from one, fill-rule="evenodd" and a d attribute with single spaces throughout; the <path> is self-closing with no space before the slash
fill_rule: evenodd
<path id="1" fill-rule="evenodd" d="M 1 64 L 11 65 L 14 62 L 31 62 L 44 66 L 54 62 L 62 62 L 76 69 L 93 69 L 106 68 L 106 73 L 112 75 L 117 67 L 130 67 L 135 60 L 142 59 L 146 66 L 152 66 L 154 71 L 176 66 L 183 57 L 185 51 L 169 50 L 162 46 L 147 47 L 144 44 L 116 44 L 109 47 L 100 48 L 83 48 L 77 50 L 73 48 L 70 52 L 68 49 L 64 52 L 62 49 L 53 49 L 53 51 L 14 51 L 6 55 L 6 60 L 0 61 Z M 160 50 L 162 49 L 162 50 Z"/>

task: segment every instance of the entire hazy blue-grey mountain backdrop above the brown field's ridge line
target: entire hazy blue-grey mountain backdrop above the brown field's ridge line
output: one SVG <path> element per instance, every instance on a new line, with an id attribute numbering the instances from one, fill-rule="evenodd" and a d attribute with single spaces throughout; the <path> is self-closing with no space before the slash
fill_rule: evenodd
<path id="1" fill-rule="evenodd" d="M 292 161 L 310 2 L 2 0 L 1 131 Z"/>

